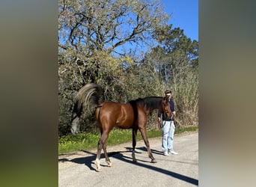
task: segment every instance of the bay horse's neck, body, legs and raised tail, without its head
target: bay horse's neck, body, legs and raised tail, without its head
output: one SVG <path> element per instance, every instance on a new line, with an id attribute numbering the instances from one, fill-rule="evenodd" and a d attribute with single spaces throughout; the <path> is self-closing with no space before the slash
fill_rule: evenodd
<path id="1" fill-rule="evenodd" d="M 100 140 L 97 146 L 97 156 L 95 160 L 96 171 L 102 171 L 100 167 L 100 154 L 103 149 L 105 153 L 106 163 L 109 167 L 112 167 L 112 163 L 109 160 L 108 153 L 106 151 L 106 141 L 109 136 L 109 132 L 117 126 L 121 129 L 132 129 L 132 162 L 137 162 L 135 159 L 135 146 L 136 136 L 138 130 L 141 132 L 141 136 L 144 140 L 144 144 L 147 147 L 147 153 L 152 163 L 156 163 L 156 159 L 150 150 L 150 144 L 147 139 L 146 123 L 147 115 L 154 109 L 158 109 L 162 102 L 162 96 L 148 96 L 143 99 L 138 98 L 131 100 L 127 103 L 120 102 L 99 102 L 102 88 L 95 83 L 89 83 L 82 87 L 76 95 L 77 111 L 81 111 L 84 108 L 90 111 L 92 105 L 96 105 L 95 117 L 100 128 Z"/>

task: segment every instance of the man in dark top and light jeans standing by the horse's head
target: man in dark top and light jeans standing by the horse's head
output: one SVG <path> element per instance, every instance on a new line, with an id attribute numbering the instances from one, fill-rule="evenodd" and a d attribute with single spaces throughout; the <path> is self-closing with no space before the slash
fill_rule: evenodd
<path id="1" fill-rule="evenodd" d="M 171 91 L 165 91 L 165 99 L 168 100 L 171 109 L 171 117 L 168 117 L 164 111 L 159 110 L 158 112 L 158 121 L 161 123 L 162 116 L 162 152 L 164 156 L 169 156 L 170 154 L 177 155 L 178 153 L 173 149 L 174 141 L 174 101 L 171 99 Z"/>

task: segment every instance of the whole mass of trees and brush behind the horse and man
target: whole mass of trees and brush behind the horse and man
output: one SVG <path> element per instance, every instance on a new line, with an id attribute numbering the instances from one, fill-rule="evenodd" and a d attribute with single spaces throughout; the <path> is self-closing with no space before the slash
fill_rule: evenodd
<path id="1" fill-rule="evenodd" d="M 159 0 L 59 1 L 59 135 L 70 133 L 76 93 L 88 82 L 102 86 L 101 101 L 172 89 L 180 126 L 198 123 L 198 42 L 166 25 L 162 10 Z M 155 119 L 148 128 L 156 128 Z M 91 114 L 79 124 L 82 132 L 97 131 Z"/>

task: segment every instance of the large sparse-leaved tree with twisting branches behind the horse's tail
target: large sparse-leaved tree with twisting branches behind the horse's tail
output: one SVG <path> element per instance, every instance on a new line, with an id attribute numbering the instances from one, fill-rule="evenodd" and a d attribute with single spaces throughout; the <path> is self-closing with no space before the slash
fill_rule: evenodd
<path id="1" fill-rule="evenodd" d="M 59 1 L 61 129 L 68 129 L 76 91 L 88 82 L 103 86 L 103 99 L 128 99 L 120 93 L 127 88 L 124 75 L 134 65 L 129 46 L 150 42 L 153 31 L 168 20 L 162 10 L 159 0 Z"/>

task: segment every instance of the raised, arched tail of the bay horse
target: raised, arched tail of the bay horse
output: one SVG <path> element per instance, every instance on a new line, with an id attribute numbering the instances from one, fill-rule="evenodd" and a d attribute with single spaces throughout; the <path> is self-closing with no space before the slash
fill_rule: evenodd
<path id="1" fill-rule="evenodd" d="M 91 113 L 92 105 L 100 105 L 101 93 L 102 88 L 96 83 L 89 83 L 80 88 L 76 94 L 77 111 L 82 111 L 82 108 L 84 108 L 85 111 Z"/>

